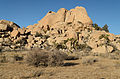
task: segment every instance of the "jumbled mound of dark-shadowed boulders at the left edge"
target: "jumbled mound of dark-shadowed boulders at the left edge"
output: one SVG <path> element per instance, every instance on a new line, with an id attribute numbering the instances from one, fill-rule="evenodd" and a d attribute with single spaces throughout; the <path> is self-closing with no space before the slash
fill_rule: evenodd
<path id="1" fill-rule="evenodd" d="M 0 20 L 0 48 L 2 50 L 15 50 L 22 47 L 20 41 L 25 37 L 24 30 L 17 24 L 7 21 Z"/>

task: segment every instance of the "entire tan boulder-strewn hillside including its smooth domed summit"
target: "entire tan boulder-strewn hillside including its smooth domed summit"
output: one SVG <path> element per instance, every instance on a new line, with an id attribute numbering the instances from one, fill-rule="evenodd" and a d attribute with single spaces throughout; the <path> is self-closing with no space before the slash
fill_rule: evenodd
<path id="1" fill-rule="evenodd" d="M 89 50 L 106 53 L 120 50 L 120 36 L 95 30 L 86 9 L 76 7 L 48 12 L 37 24 L 20 28 L 0 21 L 1 51 L 32 48 L 58 48 L 63 51 Z"/>

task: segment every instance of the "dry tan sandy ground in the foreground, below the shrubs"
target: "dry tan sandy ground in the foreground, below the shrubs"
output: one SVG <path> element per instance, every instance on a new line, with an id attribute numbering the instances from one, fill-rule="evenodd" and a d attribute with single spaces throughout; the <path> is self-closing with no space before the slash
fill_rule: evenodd
<path id="1" fill-rule="evenodd" d="M 97 57 L 97 62 L 83 64 L 83 59 L 66 60 L 63 67 L 1 63 L 0 79 L 120 79 L 120 60 Z"/>

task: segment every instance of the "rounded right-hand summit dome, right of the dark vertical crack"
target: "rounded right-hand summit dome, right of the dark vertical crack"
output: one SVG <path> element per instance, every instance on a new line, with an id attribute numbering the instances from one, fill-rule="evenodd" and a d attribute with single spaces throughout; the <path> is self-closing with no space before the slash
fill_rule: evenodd
<path id="1" fill-rule="evenodd" d="M 93 24 L 84 7 L 76 7 L 66 13 L 65 22 L 82 22 L 83 24 Z"/>

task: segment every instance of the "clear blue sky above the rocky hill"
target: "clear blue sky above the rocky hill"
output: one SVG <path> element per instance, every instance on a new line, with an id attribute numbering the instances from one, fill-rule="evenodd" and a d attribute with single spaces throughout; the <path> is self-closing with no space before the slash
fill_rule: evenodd
<path id="1" fill-rule="evenodd" d="M 120 34 L 120 0 L 0 0 L 0 19 L 26 27 L 48 11 L 76 6 L 85 7 L 94 23 L 101 27 L 108 24 L 111 33 Z"/>

